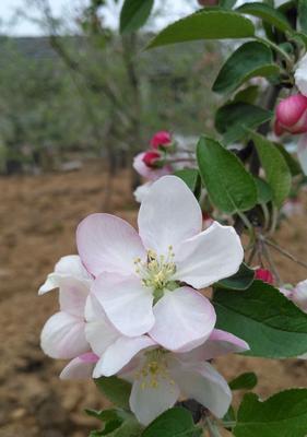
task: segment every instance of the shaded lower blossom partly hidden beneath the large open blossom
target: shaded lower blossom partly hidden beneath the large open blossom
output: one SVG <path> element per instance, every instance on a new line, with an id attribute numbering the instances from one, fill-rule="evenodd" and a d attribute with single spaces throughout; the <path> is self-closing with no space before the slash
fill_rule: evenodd
<path id="1" fill-rule="evenodd" d="M 227 412 L 232 392 L 208 361 L 247 351 L 246 342 L 228 332 L 214 330 L 203 345 L 188 353 L 165 351 L 154 343 L 149 347 L 141 346 L 139 341 L 134 347 L 135 356 L 131 353 L 128 361 L 129 354 L 122 359 L 122 349 L 118 345 L 96 371 L 97 377 L 118 375 L 132 382 L 130 408 L 140 423 L 147 425 L 179 398 L 194 399 L 217 417 Z"/>

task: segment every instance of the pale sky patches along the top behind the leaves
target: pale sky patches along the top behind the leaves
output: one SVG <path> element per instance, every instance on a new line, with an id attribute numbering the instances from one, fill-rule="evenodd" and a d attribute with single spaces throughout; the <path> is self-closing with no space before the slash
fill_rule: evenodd
<path id="1" fill-rule="evenodd" d="M 39 17 L 37 9 L 31 7 L 34 2 L 35 0 L 0 0 L 1 33 L 19 36 L 42 35 L 44 31 L 31 20 Z M 78 8 L 87 4 L 87 2 L 88 0 L 49 0 L 55 16 L 74 14 Z M 157 2 L 163 3 L 165 9 L 164 19 L 156 21 L 157 27 L 167 24 L 167 16 L 169 16 L 169 21 L 174 21 L 174 19 L 192 12 L 197 5 L 196 0 L 157 0 Z M 105 20 L 107 24 L 116 27 L 118 25 L 119 7 L 116 8 L 113 0 L 109 0 L 109 3 L 111 12 L 106 15 Z M 17 11 L 22 11 L 22 14 Z M 25 14 L 28 16 L 23 16 Z"/>

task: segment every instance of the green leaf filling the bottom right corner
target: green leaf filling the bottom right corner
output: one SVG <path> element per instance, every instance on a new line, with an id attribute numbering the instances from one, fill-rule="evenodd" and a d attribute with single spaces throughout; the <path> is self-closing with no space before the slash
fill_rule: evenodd
<path id="1" fill-rule="evenodd" d="M 234 429 L 236 437 L 305 437 L 307 389 L 290 389 L 267 399 L 244 397 Z"/>

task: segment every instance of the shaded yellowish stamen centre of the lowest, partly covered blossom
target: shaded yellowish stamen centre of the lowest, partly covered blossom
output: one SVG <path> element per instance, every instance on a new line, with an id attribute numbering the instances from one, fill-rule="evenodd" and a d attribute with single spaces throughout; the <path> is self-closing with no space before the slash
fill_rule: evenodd
<path id="1" fill-rule="evenodd" d="M 161 349 L 145 353 L 145 363 L 135 375 L 135 378 L 141 380 L 142 389 L 156 389 L 165 380 L 172 386 L 175 385 L 167 368 L 166 355 L 167 352 Z"/>

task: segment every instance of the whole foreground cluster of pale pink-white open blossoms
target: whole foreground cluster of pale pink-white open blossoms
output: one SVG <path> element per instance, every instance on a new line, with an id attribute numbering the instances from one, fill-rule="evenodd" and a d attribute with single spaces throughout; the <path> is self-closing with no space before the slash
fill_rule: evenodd
<path id="1" fill-rule="evenodd" d="M 61 258 L 39 290 L 59 288 L 60 300 L 42 347 L 70 359 L 61 378 L 130 381 L 131 411 L 144 425 L 184 398 L 222 417 L 232 393 L 210 361 L 248 345 L 215 329 L 199 291 L 238 271 L 240 239 L 217 222 L 202 231 L 199 203 L 176 176 L 153 182 L 138 225 L 103 213 L 81 222 L 79 256 Z"/>

